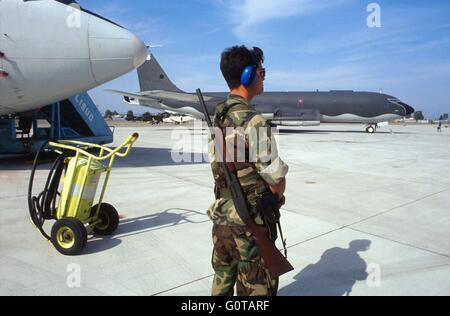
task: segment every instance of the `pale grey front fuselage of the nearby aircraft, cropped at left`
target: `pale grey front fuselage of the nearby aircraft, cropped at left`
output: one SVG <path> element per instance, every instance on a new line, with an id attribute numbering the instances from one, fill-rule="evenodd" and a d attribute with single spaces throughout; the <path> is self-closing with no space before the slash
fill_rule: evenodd
<path id="1" fill-rule="evenodd" d="M 139 38 L 76 1 L 0 1 L 0 116 L 95 88 L 147 56 Z"/>

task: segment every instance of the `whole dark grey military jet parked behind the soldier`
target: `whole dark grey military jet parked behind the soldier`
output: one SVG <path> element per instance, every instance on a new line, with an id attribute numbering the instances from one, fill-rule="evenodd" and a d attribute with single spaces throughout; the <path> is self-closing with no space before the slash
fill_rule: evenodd
<path id="1" fill-rule="evenodd" d="M 140 93 L 117 90 L 128 104 L 203 117 L 197 96 L 186 93 L 168 78 L 153 55 L 138 68 Z M 228 93 L 205 92 L 205 101 L 214 107 Z M 364 123 L 366 132 L 374 133 L 378 123 L 414 113 L 414 109 L 393 96 L 373 92 L 265 92 L 253 99 L 257 111 L 274 126 L 316 126 L 320 123 Z"/>

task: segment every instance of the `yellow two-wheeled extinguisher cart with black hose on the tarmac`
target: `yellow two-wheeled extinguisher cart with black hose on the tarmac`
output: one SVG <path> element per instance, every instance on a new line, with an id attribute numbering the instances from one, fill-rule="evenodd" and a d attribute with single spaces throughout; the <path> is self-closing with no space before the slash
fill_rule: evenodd
<path id="1" fill-rule="evenodd" d="M 28 188 L 31 221 L 41 234 L 64 255 L 78 255 L 87 244 L 88 233 L 111 235 L 119 225 L 116 209 L 103 203 L 116 157 L 126 157 L 138 139 L 137 133 L 115 149 L 79 141 L 49 141 L 36 154 Z M 50 168 L 44 190 L 33 196 L 39 158 L 44 152 L 58 154 Z M 100 179 L 104 178 L 94 206 Z M 56 220 L 51 234 L 45 232 L 47 220 Z"/>

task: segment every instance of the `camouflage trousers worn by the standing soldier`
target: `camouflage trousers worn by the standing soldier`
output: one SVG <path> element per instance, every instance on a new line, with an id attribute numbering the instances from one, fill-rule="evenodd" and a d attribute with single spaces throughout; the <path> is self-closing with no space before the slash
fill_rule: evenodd
<path id="1" fill-rule="evenodd" d="M 278 278 L 270 277 L 255 239 L 246 227 L 213 227 L 213 296 L 276 296 Z"/>

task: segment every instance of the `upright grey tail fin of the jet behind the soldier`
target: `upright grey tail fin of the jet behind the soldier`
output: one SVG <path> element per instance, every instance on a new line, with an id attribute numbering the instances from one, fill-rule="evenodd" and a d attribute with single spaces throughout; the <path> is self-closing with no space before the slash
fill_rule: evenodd
<path id="1" fill-rule="evenodd" d="M 170 81 L 153 54 L 150 54 L 150 59 L 139 67 L 137 71 L 141 92 L 161 90 L 183 93 L 182 90 Z"/>

